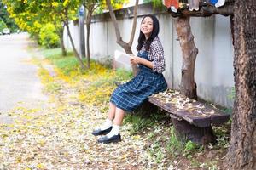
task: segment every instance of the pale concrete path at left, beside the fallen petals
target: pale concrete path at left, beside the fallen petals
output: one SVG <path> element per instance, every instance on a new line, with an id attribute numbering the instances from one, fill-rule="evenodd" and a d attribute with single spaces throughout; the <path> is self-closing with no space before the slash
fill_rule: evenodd
<path id="1" fill-rule="evenodd" d="M 0 36 L 0 123 L 11 122 L 7 113 L 20 102 L 33 105 L 47 99 L 41 92 L 38 68 L 29 62 L 30 45 L 26 33 Z"/>

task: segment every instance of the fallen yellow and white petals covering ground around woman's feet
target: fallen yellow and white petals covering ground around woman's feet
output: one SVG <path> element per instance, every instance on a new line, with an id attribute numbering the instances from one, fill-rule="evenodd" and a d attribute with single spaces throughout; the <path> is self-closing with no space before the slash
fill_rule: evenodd
<path id="1" fill-rule="evenodd" d="M 121 142 L 97 144 L 91 132 L 107 117 L 115 82 L 128 80 L 122 72 L 95 62 L 85 74 L 78 69 L 61 71 L 42 57 L 32 63 L 39 67 L 49 100 L 44 107 L 38 103 L 32 108 L 21 102 L 9 111 L 14 123 L 0 124 L 1 170 L 178 169 L 181 164 L 189 168 L 181 157 L 170 159 L 170 127 L 162 122 L 137 133 L 125 123 Z"/>

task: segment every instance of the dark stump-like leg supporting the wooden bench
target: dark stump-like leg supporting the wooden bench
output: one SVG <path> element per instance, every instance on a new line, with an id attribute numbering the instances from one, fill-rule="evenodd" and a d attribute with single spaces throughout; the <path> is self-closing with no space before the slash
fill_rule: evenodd
<path id="1" fill-rule="evenodd" d="M 212 131 L 212 126 L 209 127 L 195 127 L 184 120 L 179 120 L 172 116 L 172 124 L 175 130 L 177 139 L 186 142 L 188 139 L 196 144 L 216 143 L 217 137 Z"/>

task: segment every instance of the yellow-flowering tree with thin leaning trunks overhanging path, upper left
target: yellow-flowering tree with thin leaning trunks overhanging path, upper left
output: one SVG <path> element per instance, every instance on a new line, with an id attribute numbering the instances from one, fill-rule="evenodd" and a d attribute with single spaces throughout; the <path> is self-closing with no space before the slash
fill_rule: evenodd
<path id="1" fill-rule="evenodd" d="M 26 31 L 30 32 L 38 39 L 39 31 L 42 25 L 52 23 L 55 25 L 58 35 L 61 39 L 62 54 L 67 54 L 63 43 L 63 30 L 67 26 L 68 37 L 73 47 L 73 53 L 78 59 L 82 69 L 84 63 L 79 58 L 79 53 L 76 50 L 73 42 L 73 37 L 69 29 L 69 20 L 77 19 L 77 9 L 81 4 L 79 0 L 3 0 L 8 5 L 9 14 L 15 18 L 16 23 Z"/>

